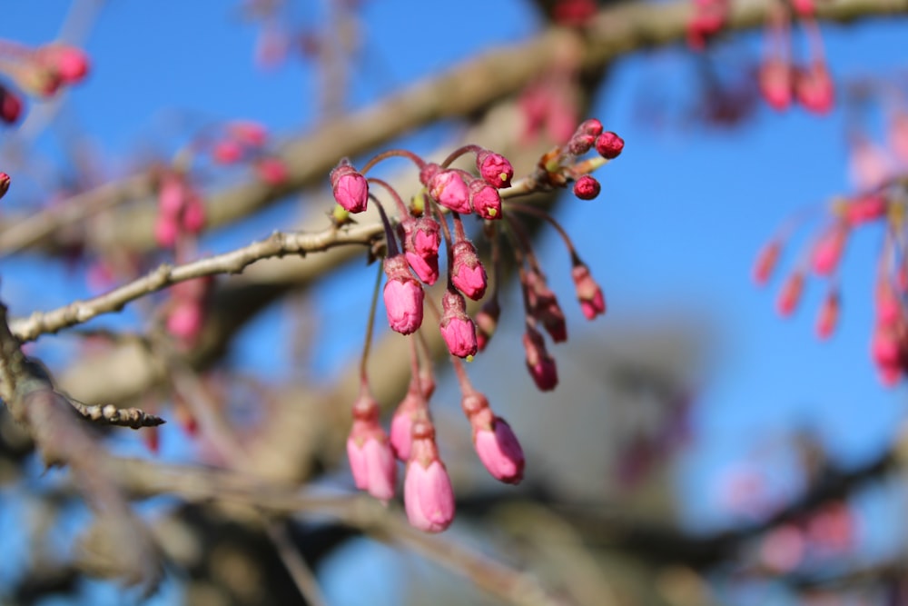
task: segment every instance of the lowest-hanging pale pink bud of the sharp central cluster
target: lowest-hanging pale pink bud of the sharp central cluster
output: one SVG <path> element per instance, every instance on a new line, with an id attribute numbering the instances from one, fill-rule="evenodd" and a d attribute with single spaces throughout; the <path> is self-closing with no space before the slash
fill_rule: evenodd
<path id="1" fill-rule="evenodd" d="M 440 532 L 454 520 L 454 489 L 435 445 L 435 430 L 426 421 L 413 423 L 410 463 L 403 485 L 410 525 Z"/>

